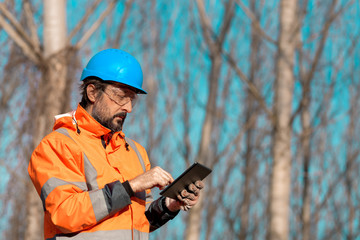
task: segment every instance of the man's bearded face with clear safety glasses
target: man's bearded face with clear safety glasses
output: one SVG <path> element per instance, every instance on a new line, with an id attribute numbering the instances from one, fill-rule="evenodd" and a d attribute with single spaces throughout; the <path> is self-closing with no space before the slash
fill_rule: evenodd
<path id="1" fill-rule="evenodd" d="M 132 111 L 136 99 L 137 94 L 133 90 L 109 85 L 99 92 L 91 115 L 112 132 L 121 131 L 126 115 Z"/>

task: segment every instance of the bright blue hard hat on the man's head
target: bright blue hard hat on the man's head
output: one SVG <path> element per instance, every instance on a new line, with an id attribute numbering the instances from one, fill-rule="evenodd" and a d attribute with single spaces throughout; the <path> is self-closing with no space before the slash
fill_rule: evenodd
<path id="1" fill-rule="evenodd" d="M 129 53 L 119 49 L 106 49 L 95 54 L 81 74 L 81 81 L 97 77 L 128 85 L 147 94 L 142 89 L 143 74 L 139 62 Z"/>

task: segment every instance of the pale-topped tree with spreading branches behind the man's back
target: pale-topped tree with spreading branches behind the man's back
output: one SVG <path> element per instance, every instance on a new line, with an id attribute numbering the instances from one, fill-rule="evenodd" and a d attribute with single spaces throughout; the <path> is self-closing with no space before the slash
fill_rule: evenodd
<path id="1" fill-rule="evenodd" d="M 27 127 L 24 126 L 23 130 L 26 130 L 25 134 L 30 134 L 32 138 L 30 144 L 27 143 L 29 145 L 24 148 L 31 149 L 25 154 L 25 159 L 29 159 L 31 151 L 40 142 L 41 138 L 51 131 L 53 117 L 70 110 L 70 93 L 73 79 L 67 75 L 69 59 L 72 59 L 76 51 L 88 41 L 108 13 L 113 10 L 115 3 L 115 1 L 108 3 L 105 11 L 100 14 L 99 18 L 73 46 L 69 44 L 72 37 L 83 27 L 89 15 L 93 14 L 99 1 L 88 9 L 83 19 L 70 33 L 70 38 L 68 38 L 66 0 L 44 0 L 43 44 L 41 44 L 38 35 L 39 26 L 35 24 L 34 20 L 34 6 L 30 1 L 25 0 L 22 2 L 26 19 L 25 26 L 19 24 L 5 3 L 0 3 L 0 26 L 4 28 L 16 46 L 21 49 L 21 52 L 33 67 L 38 70 L 35 77 L 28 78 L 29 97 L 27 106 L 30 108 L 28 118 L 31 119 L 31 123 L 30 125 L 27 124 Z M 36 128 L 33 127 L 34 125 Z M 23 136 L 24 131 L 21 131 L 20 134 Z M 27 165 L 26 160 L 24 165 Z M 23 172 L 22 176 L 27 176 L 26 167 L 23 167 L 21 171 Z M 26 178 L 22 181 L 20 183 L 25 182 L 26 186 L 26 204 L 20 204 L 19 206 L 21 206 L 21 209 L 26 206 L 26 221 L 18 222 L 25 222 L 24 239 L 43 239 L 41 201 L 29 179 Z M 18 197 L 15 202 L 21 202 L 24 199 Z M 23 217 L 17 213 L 19 213 L 19 209 L 15 209 L 13 216 L 17 218 Z M 16 226 L 14 225 L 14 227 Z"/>

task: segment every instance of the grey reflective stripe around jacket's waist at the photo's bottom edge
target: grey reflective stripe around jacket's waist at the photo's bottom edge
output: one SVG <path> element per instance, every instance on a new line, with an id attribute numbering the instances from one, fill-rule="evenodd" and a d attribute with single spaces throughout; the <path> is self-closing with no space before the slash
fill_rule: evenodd
<path id="1" fill-rule="evenodd" d="M 111 231 L 97 231 L 97 232 L 80 232 L 78 234 L 62 234 L 54 236 L 53 238 L 48 238 L 47 240 L 104 240 L 104 239 L 112 239 L 112 240 L 127 240 L 127 239 L 135 239 L 135 240 L 148 240 L 149 233 L 140 232 L 138 230 L 134 230 L 134 238 L 132 238 L 132 231 L 130 229 L 123 230 L 111 230 Z"/>

